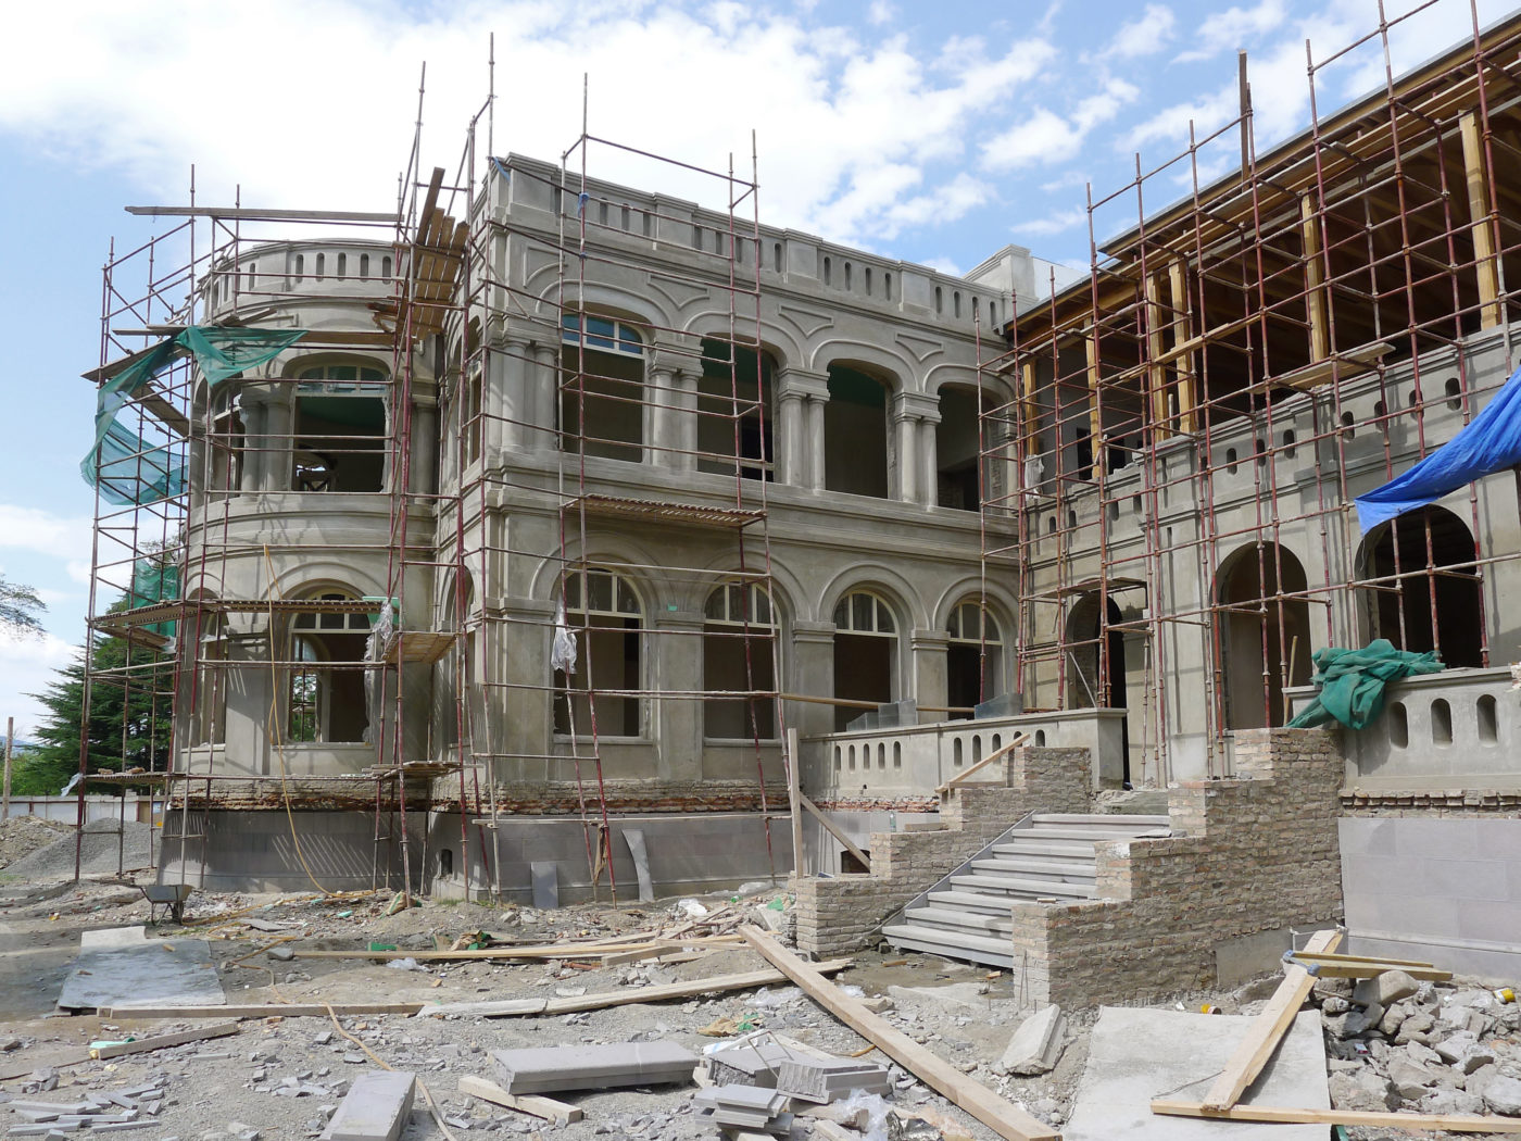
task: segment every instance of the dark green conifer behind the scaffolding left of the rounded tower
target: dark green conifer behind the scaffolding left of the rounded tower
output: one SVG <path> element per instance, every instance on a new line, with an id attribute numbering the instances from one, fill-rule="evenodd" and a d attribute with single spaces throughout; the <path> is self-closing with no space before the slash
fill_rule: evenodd
<path id="1" fill-rule="evenodd" d="M 113 610 L 125 605 L 119 602 Z M 131 669 L 126 666 L 131 665 Z M 94 647 L 90 677 L 88 768 L 163 771 L 169 761 L 173 721 L 173 657 L 157 650 L 129 648 L 114 634 Z M 29 694 L 47 707 L 37 730 L 37 745 L 17 765 L 15 790 L 56 796 L 79 771 L 79 724 L 84 712 L 85 665 L 81 651 L 41 694 Z"/>

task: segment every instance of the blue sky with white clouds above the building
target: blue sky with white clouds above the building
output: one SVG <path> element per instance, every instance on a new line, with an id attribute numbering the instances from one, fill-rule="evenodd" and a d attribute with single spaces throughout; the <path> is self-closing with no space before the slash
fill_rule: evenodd
<path id="1" fill-rule="evenodd" d="M 1481 24 L 1513 3 L 1474 0 Z M 1471 0 L 1386 0 L 1396 73 L 1472 35 Z M 992 18 L 990 18 L 992 15 Z M 458 167 L 485 105 L 493 146 L 558 160 L 590 131 L 748 172 L 762 221 L 964 272 L 1016 243 L 1089 263 L 1106 199 L 1237 114 L 1249 53 L 1258 149 L 1308 126 L 1305 41 L 1326 59 L 1378 27 L 1377 0 L 59 0 L 0 43 L 0 574 L 49 604 L 0 639 L 0 720 L 84 640 L 93 493 L 79 478 L 100 354 L 100 266 L 154 233 L 128 204 L 391 210 L 421 96 L 424 167 Z M 494 37 L 494 44 L 493 44 Z M 426 82 L 423 79 L 426 67 Z M 1317 73 L 1319 113 L 1384 82 L 1373 37 Z M 1139 155 L 1139 160 L 1138 160 Z M 1240 161 L 1234 134 L 1199 155 Z M 722 208 L 715 186 L 599 148 L 589 173 Z M 1147 186 L 1183 196 L 1186 163 Z M 1136 221 L 1095 213 L 1097 237 Z M 163 225 L 160 222 L 158 225 Z M 102 609 L 105 602 L 102 601 Z"/>

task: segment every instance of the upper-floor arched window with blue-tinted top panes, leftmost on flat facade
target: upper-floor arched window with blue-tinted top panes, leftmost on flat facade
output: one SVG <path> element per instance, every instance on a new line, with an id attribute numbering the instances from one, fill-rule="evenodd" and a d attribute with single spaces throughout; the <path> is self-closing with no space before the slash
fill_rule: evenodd
<path id="1" fill-rule="evenodd" d="M 561 316 L 560 449 L 639 462 L 643 455 L 645 341 L 608 316 Z M 578 447 L 580 444 L 580 447 Z"/>

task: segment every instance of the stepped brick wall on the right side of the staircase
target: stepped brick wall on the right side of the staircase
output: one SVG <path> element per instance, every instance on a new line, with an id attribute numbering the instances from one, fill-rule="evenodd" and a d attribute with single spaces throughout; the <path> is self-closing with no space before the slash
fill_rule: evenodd
<path id="1" fill-rule="evenodd" d="M 1342 914 L 1343 759 L 1320 729 L 1241 730 L 1237 779 L 1176 785 L 1176 832 L 1098 846 L 1101 899 L 1016 902 L 1015 974 L 1091 1006 L 1212 986 L 1217 943 Z"/>

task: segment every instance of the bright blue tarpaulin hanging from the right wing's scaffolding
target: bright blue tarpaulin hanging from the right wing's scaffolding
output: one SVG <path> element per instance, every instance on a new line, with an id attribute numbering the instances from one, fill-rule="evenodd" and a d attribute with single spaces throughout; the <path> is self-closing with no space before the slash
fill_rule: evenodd
<path id="1" fill-rule="evenodd" d="M 1383 522 L 1434 504 L 1480 476 L 1521 464 L 1521 368 L 1483 412 L 1408 472 L 1357 497 L 1357 522 L 1372 531 Z"/>

